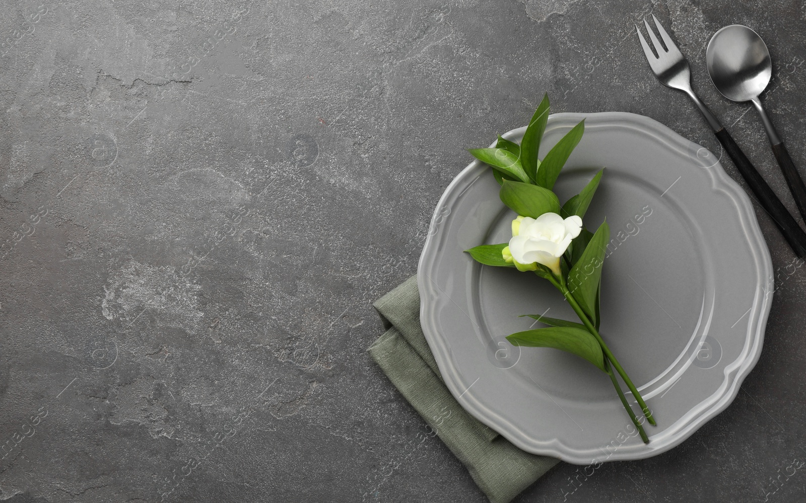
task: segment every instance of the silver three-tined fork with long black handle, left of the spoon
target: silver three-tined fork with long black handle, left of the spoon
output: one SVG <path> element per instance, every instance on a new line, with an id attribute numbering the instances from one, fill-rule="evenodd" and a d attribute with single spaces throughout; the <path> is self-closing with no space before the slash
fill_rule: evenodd
<path id="1" fill-rule="evenodd" d="M 652 14 L 652 19 L 654 19 L 655 27 L 658 28 L 661 39 L 663 39 L 663 44 L 666 45 L 664 49 L 658 37 L 655 36 L 654 31 L 652 31 L 650 24 L 646 23 L 646 19 L 644 19 L 644 27 L 646 27 L 646 31 L 650 35 L 652 46 L 655 52 L 658 53 L 658 56 L 654 55 L 649 44 L 646 43 L 641 29 L 638 25 L 635 25 L 635 31 L 638 33 L 638 39 L 641 40 L 641 47 L 644 49 L 646 60 L 649 61 L 652 72 L 654 72 L 654 75 L 658 77 L 658 80 L 660 80 L 663 85 L 671 87 L 672 89 L 679 89 L 683 91 L 683 93 L 688 94 L 688 97 L 692 98 L 694 104 L 697 105 L 697 108 L 700 109 L 700 112 L 704 115 L 705 120 L 708 121 L 708 125 L 713 129 L 714 134 L 717 135 L 719 142 L 728 152 L 730 159 L 733 159 L 733 164 L 735 164 L 739 172 L 742 173 L 742 177 L 744 177 L 747 184 L 750 185 L 750 188 L 753 190 L 755 196 L 758 197 L 758 201 L 762 207 L 767 210 L 772 220 L 778 225 L 783 237 L 787 239 L 789 245 L 795 251 L 795 254 L 800 258 L 806 258 L 806 233 L 800 228 L 800 225 L 798 225 L 797 221 L 791 216 L 791 213 L 787 211 L 787 208 L 783 206 L 778 196 L 775 196 L 775 192 L 772 192 L 770 186 L 767 185 L 762 175 L 760 175 L 753 164 L 750 163 L 750 160 L 747 159 L 742 149 L 733 141 L 733 138 L 731 138 L 728 131 L 725 130 L 725 127 L 720 124 L 719 120 L 711 113 L 711 110 L 709 110 L 702 100 L 700 100 L 700 97 L 696 95 L 692 89 L 692 74 L 691 70 L 688 68 L 688 60 L 680 53 L 680 50 L 672 41 L 666 30 L 663 29 L 663 25 L 654 14 Z"/>

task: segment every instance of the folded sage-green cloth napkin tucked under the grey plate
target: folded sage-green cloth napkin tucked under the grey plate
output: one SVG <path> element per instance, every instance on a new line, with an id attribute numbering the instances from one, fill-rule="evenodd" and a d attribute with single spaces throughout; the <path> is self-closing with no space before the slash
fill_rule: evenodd
<path id="1" fill-rule="evenodd" d="M 508 503 L 559 462 L 521 451 L 456 402 L 422 333 L 416 276 L 373 305 L 388 330 L 368 348 L 370 356 L 492 503 Z"/>

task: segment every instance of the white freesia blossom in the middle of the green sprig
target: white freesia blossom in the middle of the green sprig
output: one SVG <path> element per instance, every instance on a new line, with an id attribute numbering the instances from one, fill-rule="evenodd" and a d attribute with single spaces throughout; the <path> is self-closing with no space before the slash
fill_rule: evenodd
<path id="1" fill-rule="evenodd" d="M 518 270 L 535 270 L 542 264 L 559 275 L 559 259 L 581 230 L 582 219 L 576 215 L 565 220 L 557 213 L 518 216 L 512 222 L 512 239 L 503 251 L 504 258 L 511 257 Z"/>

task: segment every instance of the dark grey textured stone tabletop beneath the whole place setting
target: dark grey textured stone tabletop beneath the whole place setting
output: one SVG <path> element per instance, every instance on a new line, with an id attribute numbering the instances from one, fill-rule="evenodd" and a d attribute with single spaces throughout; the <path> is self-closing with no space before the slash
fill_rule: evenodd
<path id="1" fill-rule="evenodd" d="M 704 48 L 730 23 L 767 40 L 765 103 L 806 167 L 801 2 L 42 1 L 0 1 L 6 501 L 485 501 L 365 353 L 370 303 L 416 271 L 463 149 L 544 91 L 721 152 L 650 74 L 650 12 L 795 212 Z M 778 291 L 736 401 L 516 501 L 802 501 L 806 268 L 756 209 Z"/>

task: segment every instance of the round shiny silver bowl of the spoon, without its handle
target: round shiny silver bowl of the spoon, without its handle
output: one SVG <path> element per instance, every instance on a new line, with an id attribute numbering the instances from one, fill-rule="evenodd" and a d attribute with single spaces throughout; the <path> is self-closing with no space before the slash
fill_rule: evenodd
<path id="1" fill-rule="evenodd" d="M 713 35 L 705 62 L 713 85 L 729 100 L 751 101 L 770 84 L 772 60 L 767 44 L 741 24 L 724 27 Z"/>

